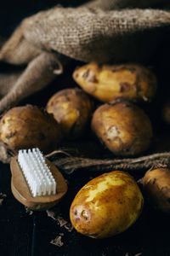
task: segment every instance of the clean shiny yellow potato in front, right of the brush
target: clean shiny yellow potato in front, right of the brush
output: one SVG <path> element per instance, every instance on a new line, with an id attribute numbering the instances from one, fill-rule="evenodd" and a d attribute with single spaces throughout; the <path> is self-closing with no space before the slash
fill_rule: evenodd
<path id="1" fill-rule="evenodd" d="M 77 193 L 71 204 L 71 223 L 85 236 L 114 236 L 139 218 L 143 201 L 133 177 L 120 171 L 105 173 Z"/>

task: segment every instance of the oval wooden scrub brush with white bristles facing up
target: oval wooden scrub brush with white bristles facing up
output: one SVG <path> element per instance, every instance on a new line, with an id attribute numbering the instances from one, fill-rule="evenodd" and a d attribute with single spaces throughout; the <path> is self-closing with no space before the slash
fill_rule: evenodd
<path id="1" fill-rule="evenodd" d="M 53 207 L 67 191 L 65 178 L 38 148 L 19 150 L 10 168 L 13 195 L 31 210 Z"/>

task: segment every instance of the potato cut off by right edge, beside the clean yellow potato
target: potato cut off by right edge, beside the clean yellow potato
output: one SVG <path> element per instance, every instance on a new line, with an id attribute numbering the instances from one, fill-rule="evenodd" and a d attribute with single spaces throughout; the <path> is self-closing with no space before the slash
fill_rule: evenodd
<path id="1" fill-rule="evenodd" d="M 170 212 L 170 169 L 156 168 L 145 173 L 142 183 L 155 207 Z"/>

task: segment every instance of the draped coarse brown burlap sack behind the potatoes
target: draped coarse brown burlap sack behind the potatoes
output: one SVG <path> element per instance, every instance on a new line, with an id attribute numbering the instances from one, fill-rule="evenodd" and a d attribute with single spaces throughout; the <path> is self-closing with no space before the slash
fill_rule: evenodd
<path id="1" fill-rule="evenodd" d="M 65 56 L 80 61 L 148 61 L 170 26 L 166 5 L 166 0 L 98 0 L 26 18 L 0 50 L 0 61 L 27 65 L 20 73 L 0 74 L 0 112 L 62 73 L 69 61 Z"/>

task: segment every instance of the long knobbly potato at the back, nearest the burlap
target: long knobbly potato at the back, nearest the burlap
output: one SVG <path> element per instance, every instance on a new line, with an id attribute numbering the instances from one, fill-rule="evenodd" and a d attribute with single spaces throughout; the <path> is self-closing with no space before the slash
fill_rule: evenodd
<path id="1" fill-rule="evenodd" d="M 156 76 L 150 69 L 137 64 L 100 67 L 92 62 L 77 68 L 73 79 L 101 102 L 117 98 L 147 102 L 156 93 Z"/>

